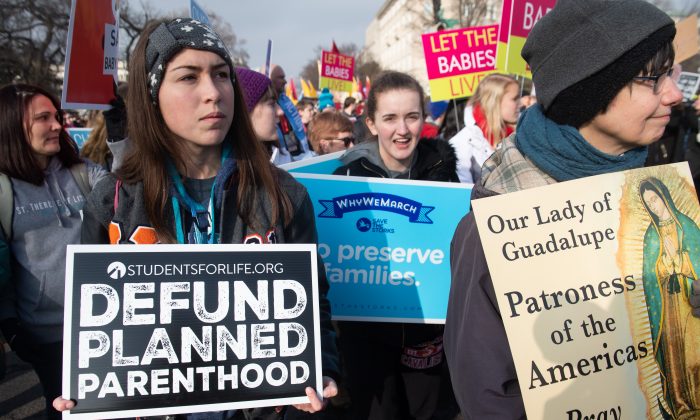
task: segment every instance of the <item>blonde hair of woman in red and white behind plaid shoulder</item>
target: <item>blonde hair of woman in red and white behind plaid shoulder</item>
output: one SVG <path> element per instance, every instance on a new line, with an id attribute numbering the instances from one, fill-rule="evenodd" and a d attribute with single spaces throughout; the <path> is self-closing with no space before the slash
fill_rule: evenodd
<path id="1" fill-rule="evenodd" d="M 501 117 L 501 101 L 506 94 L 506 88 L 510 85 L 518 87 L 518 82 L 505 74 L 489 74 L 484 77 L 474 92 L 474 96 L 469 99 L 469 105 L 479 105 L 486 117 L 487 139 L 493 139 L 493 145 L 497 145 L 503 140 L 506 133 L 506 122 Z"/>

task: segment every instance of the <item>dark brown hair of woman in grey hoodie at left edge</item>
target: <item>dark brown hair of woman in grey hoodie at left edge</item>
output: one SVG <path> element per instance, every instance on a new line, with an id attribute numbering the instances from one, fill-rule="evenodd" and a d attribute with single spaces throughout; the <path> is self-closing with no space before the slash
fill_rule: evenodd
<path id="1" fill-rule="evenodd" d="M 58 111 L 58 122 L 63 125 L 61 103 L 51 92 L 39 86 L 17 83 L 0 88 L 0 172 L 34 185 L 44 182 L 44 170 L 39 165 L 27 139 L 31 122 L 27 109 L 32 98 L 46 96 Z M 80 162 L 78 149 L 66 130 L 58 134 L 61 150 L 56 157 L 70 168 Z"/>

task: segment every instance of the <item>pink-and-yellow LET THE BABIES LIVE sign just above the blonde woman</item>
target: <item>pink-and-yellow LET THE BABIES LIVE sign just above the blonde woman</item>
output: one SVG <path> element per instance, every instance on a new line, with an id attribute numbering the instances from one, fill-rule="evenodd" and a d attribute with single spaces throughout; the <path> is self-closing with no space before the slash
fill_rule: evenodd
<path id="1" fill-rule="evenodd" d="M 423 34 L 430 99 L 443 101 L 474 94 L 496 69 L 498 25 Z"/>

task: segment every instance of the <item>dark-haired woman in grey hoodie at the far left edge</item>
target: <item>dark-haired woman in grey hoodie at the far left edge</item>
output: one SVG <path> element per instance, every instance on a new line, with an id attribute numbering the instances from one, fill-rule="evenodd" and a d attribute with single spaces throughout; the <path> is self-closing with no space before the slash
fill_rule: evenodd
<path id="1" fill-rule="evenodd" d="M 105 172 L 82 162 L 60 102 L 32 85 L 0 88 L 0 327 L 32 364 L 49 418 L 61 393 L 66 245 L 80 242 L 85 196 Z"/>

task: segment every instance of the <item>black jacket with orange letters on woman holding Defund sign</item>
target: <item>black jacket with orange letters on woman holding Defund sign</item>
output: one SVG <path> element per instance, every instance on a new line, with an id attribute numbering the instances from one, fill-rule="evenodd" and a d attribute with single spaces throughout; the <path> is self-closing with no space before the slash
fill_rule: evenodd
<path id="1" fill-rule="evenodd" d="M 276 169 L 275 175 L 281 189 L 289 197 L 294 209 L 288 226 L 270 222 L 270 202 L 261 190 L 254 206 L 260 218 L 261 228 L 246 225 L 236 209 L 236 184 L 224 191 L 217 220 L 221 220 L 221 243 L 297 243 L 317 244 L 316 222 L 313 206 L 306 188 L 287 172 Z M 81 242 L 83 244 L 135 244 L 157 243 L 155 231 L 146 216 L 143 184 L 121 184 L 118 205 L 115 209 L 117 177 L 110 174 L 93 189 L 83 209 Z M 116 210 L 116 211 L 115 211 Z M 224 215 L 224 217 L 222 217 Z M 228 216 L 231 215 L 231 216 Z M 169 226 L 174 218 L 171 206 L 166 206 L 163 217 Z M 335 331 L 331 325 L 331 308 L 327 299 L 328 279 L 323 262 L 318 260 L 319 311 L 321 318 L 321 356 L 323 374 L 338 379 L 338 350 Z"/>

